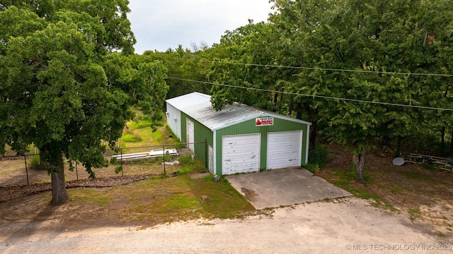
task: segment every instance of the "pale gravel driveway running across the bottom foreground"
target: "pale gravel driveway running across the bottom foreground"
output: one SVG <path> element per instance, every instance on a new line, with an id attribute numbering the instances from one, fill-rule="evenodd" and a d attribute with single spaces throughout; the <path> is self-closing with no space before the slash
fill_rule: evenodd
<path id="1" fill-rule="evenodd" d="M 453 253 L 428 227 L 350 197 L 142 230 L 17 232 L 0 235 L 0 253 Z"/>

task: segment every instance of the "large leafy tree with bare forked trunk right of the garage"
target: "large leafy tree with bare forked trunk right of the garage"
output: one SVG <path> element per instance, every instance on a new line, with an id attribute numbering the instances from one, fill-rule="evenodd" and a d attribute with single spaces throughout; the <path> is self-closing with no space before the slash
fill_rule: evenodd
<path id="1" fill-rule="evenodd" d="M 299 35 L 290 38 L 302 44 L 304 50 L 299 55 L 311 67 L 301 71 L 292 84 L 301 94 L 347 99 L 322 99 L 316 102 L 316 108 L 327 123 L 324 133 L 351 147 L 355 168 L 363 180 L 367 150 L 375 140 L 410 135 L 423 124 L 426 111 L 351 99 L 433 105 L 439 92 L 445 91 L 439 89 L 436 79 L 387 72 L 436 73 L 440 68 L 435 59 L 440 51 L 433 48 L 435 42 L 428 43 L 432 37 L 427 31 L 441 28 L 437 30 L 440 37 L 451 37 L 449 30 L 443 29 L 448 25 L 432 18 L 450 16 L 451 11 L 440 8 L 447 4 L 445 1 L 276 2 L 281 8 L 276 14 L 281 15 L 277 19 L 283 24 L 280 27 L 289 35 Z M 300 24 L 308 29 L 300 29 Z M 291 49 L 287 52 L 285 55 L 291 55 Z"/>

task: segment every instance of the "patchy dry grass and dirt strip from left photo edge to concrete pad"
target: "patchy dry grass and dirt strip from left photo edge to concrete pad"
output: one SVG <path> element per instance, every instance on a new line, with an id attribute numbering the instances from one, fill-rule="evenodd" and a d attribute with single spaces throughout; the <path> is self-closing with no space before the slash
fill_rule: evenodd
<path id="1" fill-rule="evenodd" d="M 113 188 L 69 189 L 70 201 L 52 207 L 50 193 L 0 203 L 0 224 L 52 222 L 42 229 L 91 226 L 154 226 L 199 218 L 238 218 L 253 206 L 227 181 L 190 175 L 164 177 Z M 203 199 L 202 199 L 203 197 Z"/>

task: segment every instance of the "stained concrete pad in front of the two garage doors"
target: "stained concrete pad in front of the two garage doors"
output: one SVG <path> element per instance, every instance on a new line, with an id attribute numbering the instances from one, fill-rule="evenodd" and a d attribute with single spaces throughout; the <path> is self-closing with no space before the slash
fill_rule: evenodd
<path id="1" fill-rule="evenodd" d="M 256 209 L 294 205 L 351 193 L 299 167 L 225 176 Z"/>

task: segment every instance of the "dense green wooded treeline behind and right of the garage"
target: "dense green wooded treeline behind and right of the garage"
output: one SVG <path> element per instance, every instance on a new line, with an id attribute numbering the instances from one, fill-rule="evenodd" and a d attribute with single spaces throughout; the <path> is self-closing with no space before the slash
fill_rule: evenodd
<path id="1" fill-rule="evenodd" d="M 168 68 L 168 97 L 197 90 L 219 110 L 241 102 L 311 121 L 311 145 L 347 145 L 362 179 L 374 147 L 453 154 L 452 111 L 417 108 L 453 109 L 453 1 L 272 2 L 268 22 L 212 47 L 145 52 Z"/>

